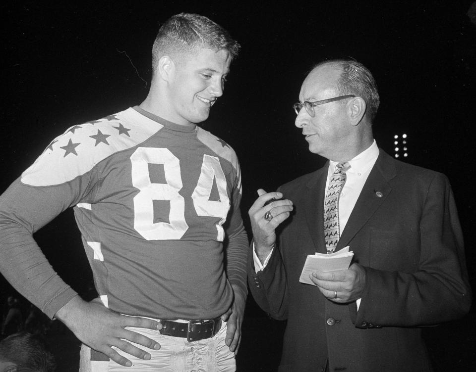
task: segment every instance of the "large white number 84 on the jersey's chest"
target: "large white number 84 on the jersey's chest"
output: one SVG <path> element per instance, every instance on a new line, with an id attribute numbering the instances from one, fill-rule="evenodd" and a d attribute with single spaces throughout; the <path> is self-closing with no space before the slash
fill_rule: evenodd
<path id="1" fill-rule="evenodd" d="M 187 231 L 185 202 L 179 194 L 182 188 L 179 159 L 167 148 L 138 147 L 130 157 L 132 185 L 139 189 L 134 196 L 134 229 L 147 240 L 180 239 Z M 151 183 L 148 164 L 164 166 L 166 184 Z M 219 201 L 209 200 L 216 180 Z M 191 195 L 198 216 L 220 217 L 216 225 L 217 240 L 223 241 L 223 223 L 230 208 L 227 181 L 220 161 L 215 156 L 203 155 L 197 186 Z M 154 222 L 153 200 L 170 201 L 169 222 Z"/>

